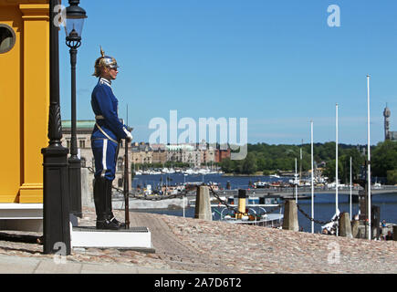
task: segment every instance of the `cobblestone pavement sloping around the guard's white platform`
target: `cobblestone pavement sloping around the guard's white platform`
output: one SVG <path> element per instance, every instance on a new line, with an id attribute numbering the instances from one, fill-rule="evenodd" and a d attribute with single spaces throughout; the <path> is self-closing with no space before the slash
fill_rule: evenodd
<path id="1" fill-rule="evenodd" d="M 119 220 L 124 217 L 122 211 L 114 213 Z M 85 208 L 83 214 L 79 225 L 95 225 L 92 209 Z M 161 214 L 131 213 L 130 218 L 131 226 L 149 228 L 154 254 L 87 248 L 73 251 L 67 260 L 193 273 L 397 273 L 397 242 L 393 241 L 370 242 Z M 53 256 L 42 251 L 43 246 L 36 243 L 0 241 L 0 255 Z"/>

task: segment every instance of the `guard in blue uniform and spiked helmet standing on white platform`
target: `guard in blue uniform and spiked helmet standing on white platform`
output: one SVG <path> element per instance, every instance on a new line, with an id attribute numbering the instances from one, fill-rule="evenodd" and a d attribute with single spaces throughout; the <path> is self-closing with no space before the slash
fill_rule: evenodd
<path id="1" fill-rule="evenodd" d="M 118 230 L 125 224 L 113 215 L 111 187 L 115 178 L 116 162 L 121 139 L 132 141 L 131 132 L 118 117 L 119 101 L 111 90 L 111 81 L 119 73 L 116 59 L 105 56 L 95 61 L 93 76 L 99 78 L 91 95 L 91 106 L 95 113 L 95 127 L 91 135 L 91 148 L 95 159 L 94 203 L 97 214 L 97 229 Z"/>

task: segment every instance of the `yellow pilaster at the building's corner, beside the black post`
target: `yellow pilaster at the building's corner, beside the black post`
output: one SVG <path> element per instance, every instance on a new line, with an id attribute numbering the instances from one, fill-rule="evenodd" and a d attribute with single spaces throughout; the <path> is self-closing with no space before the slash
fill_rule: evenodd
<path id="1" fill-rule="evenodd" d="M 24 22 L 23 183 L 19 203 L 43 202 L 43 157 L 49 105 L 49 24 L 47 4 L 21 4 Z"/>

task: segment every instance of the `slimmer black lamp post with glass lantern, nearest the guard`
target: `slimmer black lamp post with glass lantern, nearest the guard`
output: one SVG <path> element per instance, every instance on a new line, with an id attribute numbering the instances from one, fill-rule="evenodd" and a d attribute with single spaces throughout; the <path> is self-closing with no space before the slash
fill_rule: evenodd
<path id="1" fill-rule="evenodd" d="M 76 134 L 76 63 L 78 47 L 81 46 L 81 32 L 86 11 L 79 7 L 79 0 L 69 0 L 66 8 L 66 44 L 70 48 L 71 65 L 71 141 L 70 157 L 68 159 L 70 213 L 82 217 L 81 212 L 81 162 L 78 158 L 78 143 Z"/>

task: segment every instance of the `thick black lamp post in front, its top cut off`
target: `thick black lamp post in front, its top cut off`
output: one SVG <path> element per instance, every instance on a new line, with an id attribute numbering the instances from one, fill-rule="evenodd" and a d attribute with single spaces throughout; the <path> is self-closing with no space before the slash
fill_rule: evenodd
<path id="1" fill-rule="evenodd" d="M 59 0 L 49 1 L 49 16 L 56 17 Z M 49 118 L 47 148 L 43 148 L 43 249 L 45 254 L 70 255 L 68 209 L 68 148 L 61 144 L 59 106 L 58 27 L 49 21 Z M 60 244 L 60 245 L 59 245 Z M 63 245 L 63 246 L 62 246 Z"/>

